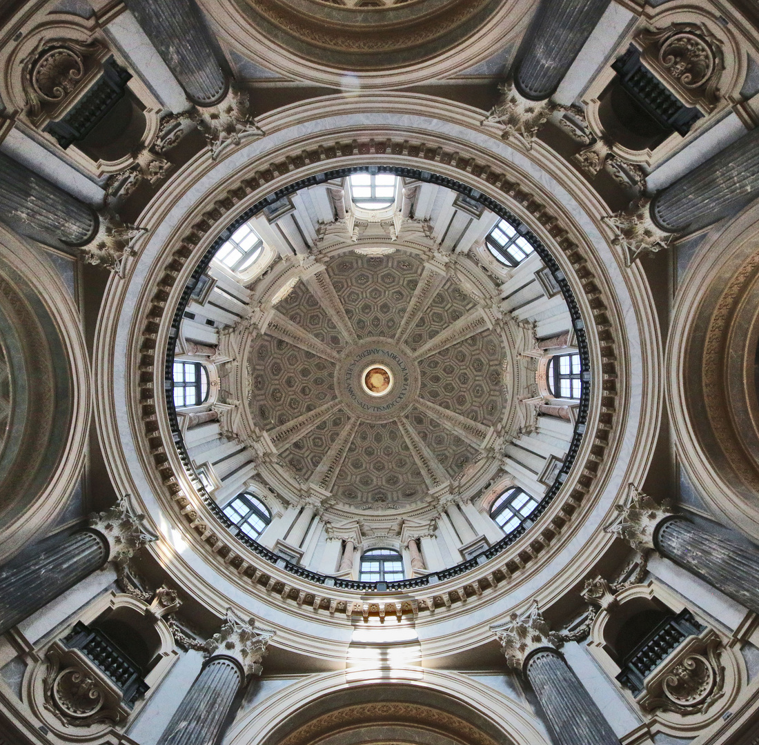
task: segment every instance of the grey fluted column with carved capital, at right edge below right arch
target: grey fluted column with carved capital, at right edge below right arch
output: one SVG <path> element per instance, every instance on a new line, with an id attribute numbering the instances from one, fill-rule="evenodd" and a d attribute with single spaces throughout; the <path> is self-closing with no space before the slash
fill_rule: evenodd
<path id="1" fill-rule="evenodd" d="M 619 517 L 606 530 L 638 551 L 655 549 L 755 613 L 759 613 L 759 551 L 725 529 L 695 525 L 631 486 Z"/>

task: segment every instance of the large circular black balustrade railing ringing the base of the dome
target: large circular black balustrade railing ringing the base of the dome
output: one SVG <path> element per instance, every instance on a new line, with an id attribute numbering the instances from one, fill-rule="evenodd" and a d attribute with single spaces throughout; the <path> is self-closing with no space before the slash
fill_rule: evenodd
<path id="1" fill-rule="evenodd" d="M 179 337 L 179 327 L 181 325 L 182 319 L 184 318 L 184 311 L 187 309 L 187 303 L 189 303 L 191 300 L 192 293 L 197 282 L 200 281 L 200 278 L 208 269 L 211 259 L 213 259 L 213 256 L 216 254 L 225 240 L 227 240 L 232 233 L 241 227 L 241 225 L 244 225 L 244 223 L 250 220 L 250 218 L 255 217 L 255 215 L 257 215 L 259 212 L 262 212 L 266 206 L 269 206 L 272 203 L 276 203 L 278 200 L 281 200 L 285 196 L 289 196 L 302 188 L 316 186 L 317 184 L 323 184 L 325 181 L 330 181 L 334 178 L 342 178 L 350 175 L 351 173 L 363 170 L 363 167 L 353 166 L 347 168 L 337 168 L 333 171 L 327 171 L 324 174 L 309 176 L 307 178 L 301 179 L 300 181 L 295 181 L 293 184 L 289 184 L 286 187 L 282 187 L 281 189 L 276 190 L 276 192 L 273 194 L 269 194 L 269 196 L 265 197 L 263 200 L 259 200 L 253 206 L 250 206 L 245 212 L 242 212 L 241 215 L 238 215 L 238 217 L 235 218 L 235 220 L 231 222 L 231 224 L 228 225 L 228 227 L 219 234 L 219 237 L 217 237 L 216 240 L 213 241 L 213 244 L 209 246 L 209 248 L 206 250 L 206 253 L 203 254 L 203 258 L 200 259 L 200 262 L 198 262 L 197 266 L 193 270 L 190 279 L 187 281 L 187 284 L 182 291 L 174 313 L 172 328 L 169 332 L 168 344 L 166 347 L 166 358 L 164 365 L 164 385 L 167 391 L 171 391 L 173 385 L 176 341 Z M 564 463 L 562 464 L 561 469 L 559 470 L 559 473 L 556 475 L 556 479 L 546 491 L 543 499 L 540 500 L 540 503 L 530 515 L 530 521 L 531 523 L 534 523 L 534 521 L 537 520 L 537 517 L 540 517 L 540 515 L 546 511 L 548 505 L 550 505 L 557 492 L 559 492 L 559 489 L 562 488 L 562 485 L 565 482 L 569 471 L 572 469 L 572 464 L 574 464 L 575 457 L 580 450 L 580 445 L 585 432 L 585 423 L 587 422 L 587 414 L 590 410 L 591 357 L 587 347 L 587 333 L 585 331 L 585 325 L 580 314 L 580 307 L 578 305 L 578 302 L 575 299 L 575 295 L 572 293 L 572 288 L 570 288 L 564 272 L 562 272 L 562 270 L 559 268 L 556 259 L 554 259 L 550 251 L 546 249 L 545 246 L 543 246 L 540 238 L 537 237 L 537 235 L 530 231 L 528 228 L 526 228 L 516 215 L 512 214 L 512 212 L 509 212 L 508 209 L 502 206 L 502 204 L 496 202 L 496 200 L 490 198 L 490 196 L 480 193 L 479 191 L 472 189 L 465 184 L 461 184 L 460 181 L 455 181 L 455 179 L 431 173 L 430 171 L 420 171 L 416 168 L 404 168 L 401 166 L 384 165 L 379 166 L 378 171 L 381 173 L 395 174 L 396 176 L 404 178 L 414 178 L 417 181 L 427 181 L 430 184 L 437 184 L 447 187 L 483 204 L 487 207 L 487 209 L 490 209 L 491 212 L 498 215 L 500 218 L 505 219 L 512 225 L 518 226 L 521 233 L 527 237 L 527 239 L 533 245 L 535 253 L 540 256 L 540 259 L 542 259 L 546 267 L 550 269 L 550 272 L 553 274 L 553 277 L 556 280 L 556 284 L 558 284 L 559 288 L 561 288 L 562 295 L 564 296 L 565 303 L 567 304 L 567 308 L 569 310 L 569 315 L 572 318 L 572 325 L 575 328 L 576 344 L 578 347 L 578 352 L 580 354 L 581 367 L 583 371 L 583 382 L 581 388 L 581 397 L 580 401 L 578 402 L 579 405 L 575 422 L 575 432 L 572 435 L 572 442 L 569 444 L 567 455 L 564 459 Z M 165 398 L 168 421 L 172 429 L 172 436 L 182 466 L 184 467 L 187 476 L 191 479 L 193 486 L 197 490 L 206 507 L 209 508 L 209 510 L 213 513 L 217 520 L 219 520 L 220 523 L 222 523 L 228 530 L 230 530 L 230 532 L 235 536 L 235 539 L 237 539 L 239 542 L 243 543 L 259 556 L 266 559 L 266 561 L 269 561 L 272 564 L 278 564 L 280 567 L 284 568 L 285 571 L 288 571 L 298 577 L 310 580 L 311 582 L 320 585 L 326 584 L 328 586 L 334 586 L 339 589 L 353 589 L 362 593 L 396 592 L 399 590 L 413 589 L 415 587 L 424 587 L 431 583 L 448 580 L 452 577 L 458 577 L 458 575 L 465 574 L 465 572 L 470 571 L 474 567 L 477 567 L 480 564 L 484 564 L 485 561 L 490 560 L 508 548 L 509 545 L 512 545 L 512 543 L 524 535 L 524 532 L 527 530 L 527 526 L 524 524 L 520 525 L 516 530 L 513 530 L 512 533 L 509 533 L 508 536 L 505 536 L 499 542 L 490 546 L 490 548 L 485 549 L 474 557 L 469 558 L 467 561 L 462 561 L 460 564 L 456 564 L 455 567 L 449 567 L 448 569 L 444 569 L 439 572 L 425 574 L 422 577 L 414 577 L 412 580 L 402 580 L 399 582 L 389 583 L 356 582 L 354 580 L 344 580 L 339 577 L 329 577 L 325 574 L 318 574 L 317 572 L 309 571 L 307 569 L 304 569 L 304 567 L 300 567 L 298 564 L 293 564 L 290 561 L 286 561 L 284 558 L 282 558 L 282 556 L 269 551 L 269 549 L 266 549 L 265 546 L 260 545 L 260 543 L 250 538 L 250 536 L 247 536 L 240 531 L 237 531 L 236 533 L 234 532 L 236 530 L 235 523 L 232 523 L 232 521 L 224 514 L 222 508 L 220 508 L 219 505 L 216 504 L 216 501 L 214 501 L 213 498 L 208 494 L 206 488 L 203 486 L 203 483 L 201 483 L 200 478 L 197 476 L 189 454 L 187 454 L 187 448 L 184 445 L 184 437 L 179 425 L 179 418 L 177 417 L 176 409 L 174 406 L 174 397 L 168 394 Z"/>

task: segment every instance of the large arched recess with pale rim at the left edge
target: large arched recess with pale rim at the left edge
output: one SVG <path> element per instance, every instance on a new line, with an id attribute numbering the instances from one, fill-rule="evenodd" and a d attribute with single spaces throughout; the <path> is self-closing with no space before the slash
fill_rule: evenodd
<path id="1" fill-rule="evenodd" d="M 81 474 L 90 420 L 74 299 L 50 263 L 2 225 L 0 346 L 8 427 L 0 442 L 2 557 L 64 507 Z"/>

